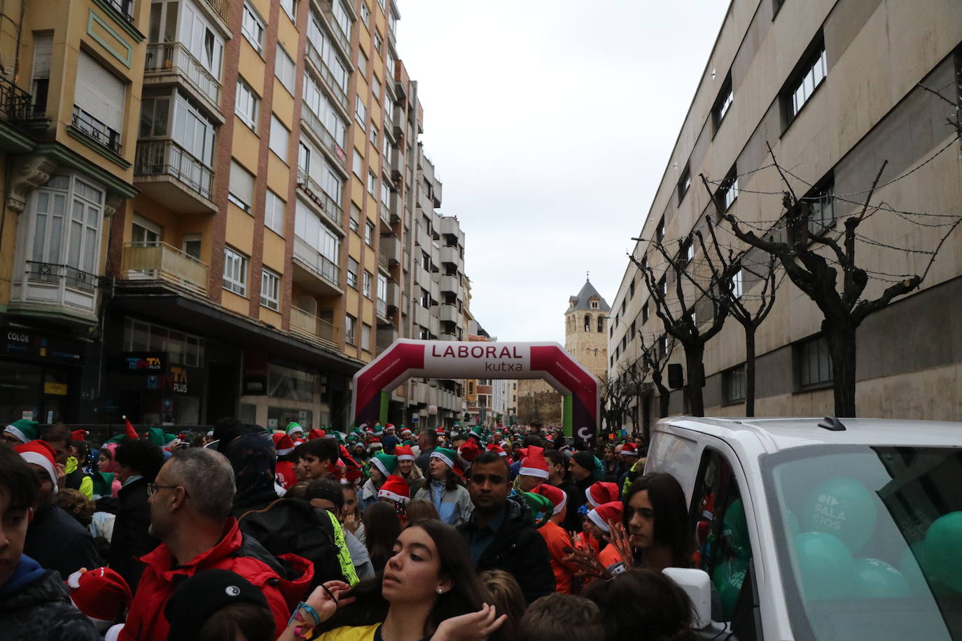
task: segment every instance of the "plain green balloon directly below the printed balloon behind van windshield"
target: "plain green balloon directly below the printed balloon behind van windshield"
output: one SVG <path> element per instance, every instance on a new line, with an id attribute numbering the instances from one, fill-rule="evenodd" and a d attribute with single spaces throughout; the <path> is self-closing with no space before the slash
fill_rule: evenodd
<path id="1" fill-rule="evenodd" d="M 824 532 L 795 537 L 801 591 L 808 601 L 844 599 L 851 590 L 851 553 L 845 543 Z"/>

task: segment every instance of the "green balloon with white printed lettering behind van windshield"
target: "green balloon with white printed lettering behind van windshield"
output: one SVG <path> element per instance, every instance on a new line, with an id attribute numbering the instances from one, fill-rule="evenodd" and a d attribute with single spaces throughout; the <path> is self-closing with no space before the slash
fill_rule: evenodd
<path id="1" fill-rule="evenodd" d="M 875 501 L 873 493 L 854 479 L 836 477 L 823 481 L 805 501 L 801 527 L 832 534 L 856 553 L 875 531 Z"/>

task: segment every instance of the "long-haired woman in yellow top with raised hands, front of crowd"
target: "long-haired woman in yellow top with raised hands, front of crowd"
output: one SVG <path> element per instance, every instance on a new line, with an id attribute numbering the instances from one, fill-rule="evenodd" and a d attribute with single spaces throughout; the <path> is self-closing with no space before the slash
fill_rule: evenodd
<path id="1" fill-rule="evenodd" d="M 279 641 L 506 638 L 500 627 L 507 615 L 497 616 L 488 604 L 490 595 L 457 530 L 440 521 L 414 522 L 397 537 L 392 553 L 374 579 L 353 588 L 342 581 L 318 586 Z"/>

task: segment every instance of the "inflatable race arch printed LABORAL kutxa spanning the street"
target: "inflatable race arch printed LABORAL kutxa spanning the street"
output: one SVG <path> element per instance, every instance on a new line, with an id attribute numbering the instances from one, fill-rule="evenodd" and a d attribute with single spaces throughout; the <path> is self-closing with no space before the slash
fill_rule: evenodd
<path id="1" fill-rule="evenodd" d="M 595 443 L 601 383 L 558 343 L 491 343 L 399 338 L 354 375 L 354 425 L 387 420 L 389 394 L 411 377 L 544 379 L 565 396 L 565 433 Z"/>

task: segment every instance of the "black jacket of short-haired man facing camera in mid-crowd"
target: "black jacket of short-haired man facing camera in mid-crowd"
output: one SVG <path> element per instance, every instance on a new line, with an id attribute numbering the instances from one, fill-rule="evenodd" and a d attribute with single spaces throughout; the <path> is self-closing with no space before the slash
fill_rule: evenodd
<path id="1" fill-rule="evenodd" d="M 524 599 L 530 604 L 545 594 L 554 592 L 554 572 L 551 556 L 544 537 L 534 529 L 527 507 L 508 499 L 507 513 L 494 541 L 478 559 L 477 571 L 504 570 L 514 575 L 521 586 Z M 459 528 L 470 545 L 471 532 L 476 529 L 474 517 Z"/>

